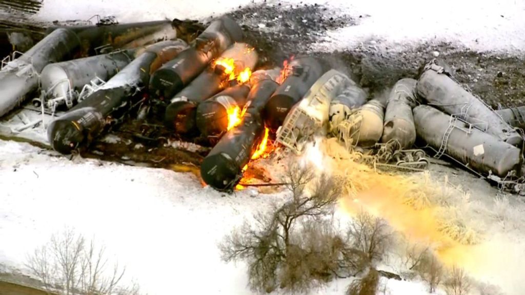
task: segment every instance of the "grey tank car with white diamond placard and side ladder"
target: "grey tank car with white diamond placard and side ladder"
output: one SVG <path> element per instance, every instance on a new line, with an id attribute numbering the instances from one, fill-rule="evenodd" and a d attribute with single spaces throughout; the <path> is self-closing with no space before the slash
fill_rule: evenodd
<path id="1" fill-rule="evenodd" d="M 479 173 L 491 171 L 505 177 L 518 169 L 520 149 L 515 146 L 476 128 L 469 129 L 464 122 L 430 106 L 415 107 L 413 112 L 419 138 L 437 150 L 445 143 L 447 155 Z"/>

